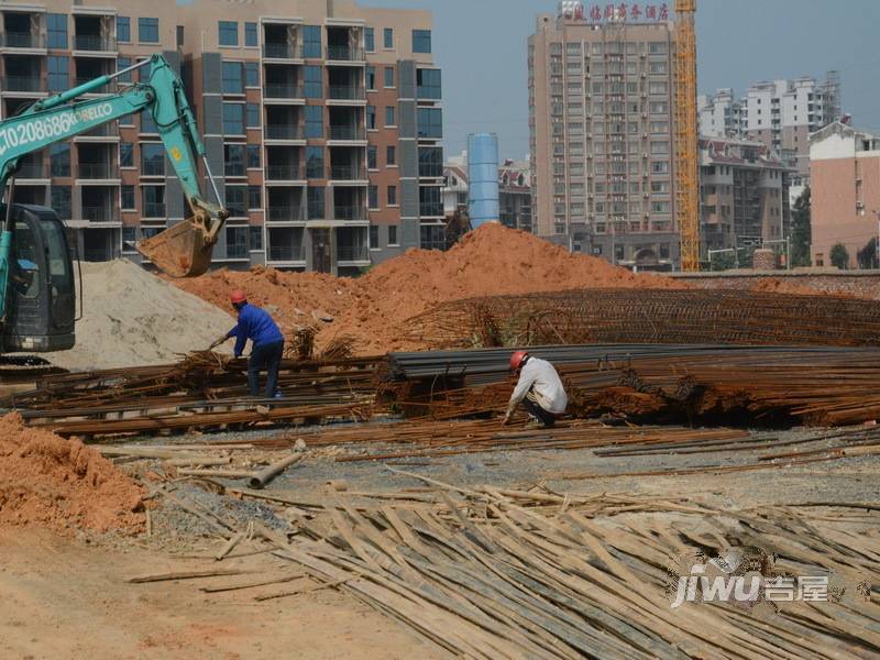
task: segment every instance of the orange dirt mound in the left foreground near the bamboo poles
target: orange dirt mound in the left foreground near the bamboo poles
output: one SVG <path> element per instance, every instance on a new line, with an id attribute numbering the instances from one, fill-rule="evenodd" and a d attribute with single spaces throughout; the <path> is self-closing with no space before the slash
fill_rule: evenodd
<path id="1" fill-rule="evenodd" d="M 135 531 L 142 490 L 78 440 L 0 417 L 0 525 Z"/>

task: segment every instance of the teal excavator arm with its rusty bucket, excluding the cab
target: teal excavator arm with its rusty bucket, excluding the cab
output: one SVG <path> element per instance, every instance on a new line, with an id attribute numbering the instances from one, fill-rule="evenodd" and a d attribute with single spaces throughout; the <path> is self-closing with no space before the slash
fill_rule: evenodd
<path id="1" fill-rule="evenodd" d="M 135 82 L 118 94 L 82 100 L 98 92 L 114 78 L 150 65 L 146 82 Z M 194 217 L 161 234 L 140 242 L 135 248 L 157 267 L 175 277 L 194 277 L 208 270 L 217 234 L 228 212 L 220 202 L 205 145 L 196 129 L 193 109 L 184 86 L 168 62 L 161 55 L 138 63 L 109 76 L 101 76 L 65 92 L 37 101 L 20 114 L 0 122 L 0 190 L 7 209 L 11 208 L 11 186 L 20 160 L 56 142 L 86 133 L 100 125 L 136 112 L 150 112 L 157 127 L 168 158 L 177 173 Z M 199 187 L 198 161 L 205 163 L 217 204 L 208 201 Z M 11 270 L 11 213 L 2 219 L 0 233 L 0 318 L 6 312 L 6 292 Z"/>

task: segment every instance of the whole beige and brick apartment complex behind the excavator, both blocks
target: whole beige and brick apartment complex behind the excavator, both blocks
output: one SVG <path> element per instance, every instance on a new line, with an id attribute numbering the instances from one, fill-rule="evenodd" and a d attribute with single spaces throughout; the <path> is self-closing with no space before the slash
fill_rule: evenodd
<path id="1" fill-rule="evenodd" d="M 162 52 L 188 88 L 231 211 L 218 265 L 345 274 L 442 244 L 430 12 L 344 0 L 108 4 L 0 6 L 2 117 Z M 187 216 L 145 116 L 32 161 L 40 176 L 20 175 L 16 201 L 56 208 L 86 258 L 139 261 L 133 241 Z"/>

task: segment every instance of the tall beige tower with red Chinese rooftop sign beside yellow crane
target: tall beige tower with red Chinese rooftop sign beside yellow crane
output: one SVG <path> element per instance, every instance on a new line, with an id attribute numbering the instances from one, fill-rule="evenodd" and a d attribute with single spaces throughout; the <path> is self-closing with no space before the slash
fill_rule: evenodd
<path id="1" fill-rule="evenodd" d="M 668 268 L 680 252 L 674 25 L 609 8 L 604 22 L 597 8 L 540 14 L 529 37 L 535 232 L 612 263 Z"/>

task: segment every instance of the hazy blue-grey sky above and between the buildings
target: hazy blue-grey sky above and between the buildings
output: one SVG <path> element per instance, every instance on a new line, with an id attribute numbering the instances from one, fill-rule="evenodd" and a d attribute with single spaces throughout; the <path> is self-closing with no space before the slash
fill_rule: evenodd
<path id="1" fill-rule="evenodd" d="M 535 16 L 554 13 L 556 0 L 359 1 L 433 12 L 448 155 L 464 148 L 468 133 L 483 131 L 498 134 L 502 158 L 528 153 L 527 40 Z M 878 28 L 880 0 L 697 0 L 698 91 L 732 87 L 740 95 L 759 80 L 839 69 L 844 112 L 880 132 Z"/>

